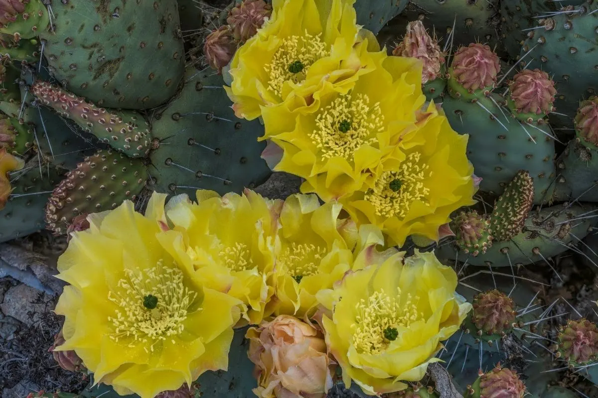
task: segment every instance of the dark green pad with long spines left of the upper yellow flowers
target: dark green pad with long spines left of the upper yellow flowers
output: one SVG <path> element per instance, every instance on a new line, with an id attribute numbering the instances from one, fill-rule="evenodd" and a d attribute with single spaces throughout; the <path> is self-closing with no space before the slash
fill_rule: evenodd
<path id="1" fill-rule="evenodd" d="M 263 126 L 236 119 L 222 77 L 211 73 L 188 69 L 184 89 L 152 122 L 160 145 L 149 155 L 149 173 L 161 192 L 241 192 L 271 173 L 260 158 L 266 143 L 257 141 Z"/>

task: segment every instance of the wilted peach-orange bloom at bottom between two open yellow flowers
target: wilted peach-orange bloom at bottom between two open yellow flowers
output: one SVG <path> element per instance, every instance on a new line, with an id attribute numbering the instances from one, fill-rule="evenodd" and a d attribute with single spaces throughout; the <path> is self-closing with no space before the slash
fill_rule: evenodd
<path id="1" fill-rule="evenodd" d="M 324 336 L 315 326 L 280 315 L 250 328 L 246 337 L 258 397 L 323 398 L 332 387 L 333 365 Z"/>

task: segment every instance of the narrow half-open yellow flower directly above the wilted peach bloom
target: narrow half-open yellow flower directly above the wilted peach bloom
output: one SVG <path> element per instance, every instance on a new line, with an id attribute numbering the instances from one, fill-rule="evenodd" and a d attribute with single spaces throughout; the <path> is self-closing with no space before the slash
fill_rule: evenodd
<path id="1" fill-rule="evenodd" d="M 342 206 L 320 206 L 315 195 L 292 195 L 280 212 L 276 244 L 274 314 L 313 314 L 316 293 L 350 270 L 357 239 L 355 223 L 341 220 Z"/>

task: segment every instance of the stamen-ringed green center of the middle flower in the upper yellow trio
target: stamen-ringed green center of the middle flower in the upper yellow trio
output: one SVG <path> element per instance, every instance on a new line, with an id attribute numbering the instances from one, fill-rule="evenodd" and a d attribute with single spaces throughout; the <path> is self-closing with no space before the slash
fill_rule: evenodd
<path id="1" fill-rule="evenodd" d="M 316 117 L 316 129 L 309 137 L 321 151 L 322 161 L 336 156 L 349 160 L 361 146 L 377 142 L 383 122 L 380 103 L 370 106 L 367 95 L 339 95 Z"/>

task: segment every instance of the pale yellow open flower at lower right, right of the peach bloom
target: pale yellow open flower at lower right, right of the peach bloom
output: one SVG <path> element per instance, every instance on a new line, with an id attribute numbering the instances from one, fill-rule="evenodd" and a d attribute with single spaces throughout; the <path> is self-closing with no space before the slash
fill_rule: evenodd
<path id="1" fill-rule="evenodd" d="M 347 274 L 318 300 L 326 344 L 343 382 L 370 395 L 422 380 L 441 341 L 456 332 L 471 304 L 455 293 L 457 275 L 432 253 L 404 252 Z"/>

